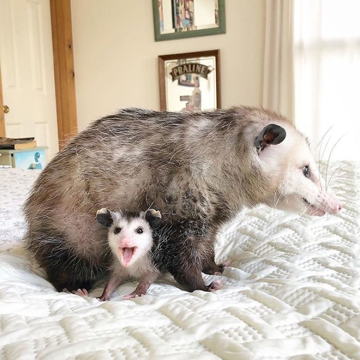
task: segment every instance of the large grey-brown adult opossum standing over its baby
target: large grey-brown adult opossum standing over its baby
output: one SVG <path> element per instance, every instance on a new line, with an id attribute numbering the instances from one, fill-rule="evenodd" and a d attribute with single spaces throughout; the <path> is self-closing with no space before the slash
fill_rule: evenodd
<path id="1" fill-rule="evenodd" d="M 341 209 L 326 191 L 307 139 L 255 107 L 171 113 L 124 109 L 95 121 L 40 174 L 25 204 L 28 249 L 61 291 L 88 289 L 107 271 L 97 209 L 154 207 L 174 235 L 161 256 L 188 291 L 209 290 L 219 227 L 243 206 L 323 215 Z"/>

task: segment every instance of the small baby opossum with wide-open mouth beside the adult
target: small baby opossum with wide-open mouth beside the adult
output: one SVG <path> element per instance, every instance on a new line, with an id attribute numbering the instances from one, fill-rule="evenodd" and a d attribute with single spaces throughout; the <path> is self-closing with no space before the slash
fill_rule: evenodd
<path id="1" fill-rule="evenodd" d="M 146 294 L 150 284 L 159 275 L 152 263 L 152 229 L 159 225 L 161 214 L 154 209 L 140 213 L 115 211 L 102 208 L 97 211 L 96 219 L 102 226 L 109 228 L 109 246 L 114 255 L 110 279 L 99 300 L 109 300 L 115 287 L 128 278 L 140 279 L 136 289 L 124 299 Z"/>

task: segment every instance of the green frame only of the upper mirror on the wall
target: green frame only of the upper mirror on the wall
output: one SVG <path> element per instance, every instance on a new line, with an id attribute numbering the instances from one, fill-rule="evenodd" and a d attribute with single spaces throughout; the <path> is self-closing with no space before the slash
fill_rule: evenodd
<path id="1" fill-rule="evenodd" d="M 195 37 L 200 37 L 200 36 L 218 35 L 218 34 L 226 33 L 225 0 L 219 0 L 219 26 L 218 27 L 212 27 L 212 28 L 200 29 L 200 30 L 188 30 L 188 31 L 181 31 L 181 32 L 165 33 L 165 34 L 161 34 L 161 32 L 160 32 L 160 15 L 159 15 L 159 11 L 158 11 L 158 1 L 159 0 L 152 0 L 155 41 L 195 38 Z"/>

